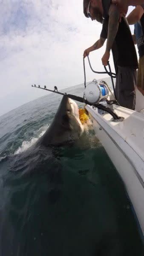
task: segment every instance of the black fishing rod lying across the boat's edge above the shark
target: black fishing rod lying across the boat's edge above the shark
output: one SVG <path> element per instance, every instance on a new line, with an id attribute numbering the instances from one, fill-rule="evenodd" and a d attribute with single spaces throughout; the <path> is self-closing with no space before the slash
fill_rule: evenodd
<path id="1" fill-rule="evenodd" d="M 52 93 L 57 93 L 57 94 L 66 96 L 66 97 L 68 97 L 68 98 L 70 98 L 70 99 L 76 100 L 76 101 L 78 101 L 78 102 L 85 103 L 85 104 L 90 105 L 90 106 L 94 106 L 95 108 L 98 108 L 98 109 L 101 109 L 101 110 L 103 110 L 103 111 L 106 111 L 106 112 L 109 113 L 109 114 L 113 117 L 113 119 L 115 119 L 115 120 L 121 119 L 121 117 L 119 117 L 111 108 L 105 107 L 105 106 L 102 105 L 102 104 L 99 104 L 99 103 L 98 103 L 98 104 L 91 104 L 91 103 L 89 103 L 86 99 L 84 99 L 84 98 L 82 98 L 82 97 L 79 97 L 79 96 L 76 96 L 76 95 L 73 95 L 73 94 L 61 93 L 61 92 L 55 91 L 55 89 L 54 89 L 54 90 L 47 89 L 47 88 L 46 88 L 46 85 L 44 86 L 44 88 L 43 88 L 43 87 L 40 87 L 40 85 L 36 86 L 36 84 L 35 84 L 35 85 L 32 85 L 32 87 L 39 88 L 39 89 L 42 89 L 42 90 L 46 90 L 46 91 L 49 91 L 49 92 L 52 92 Z M 55 88 L 55 87 L 54 87 L 54 88 Z M 57 90 L 58 90 L 58 88 L 57 88 Z"/>

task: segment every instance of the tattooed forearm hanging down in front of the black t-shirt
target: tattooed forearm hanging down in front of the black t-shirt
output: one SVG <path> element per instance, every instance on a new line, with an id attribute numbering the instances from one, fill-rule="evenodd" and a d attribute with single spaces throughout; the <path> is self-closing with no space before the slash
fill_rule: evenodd
<path id="1" fill-rule="evenodd" d="M 106 47 L 106 50 L 109 52 L 112 49 L 113 42 L 118 32 L 119 17 L 120 12 L 118 10 L 118 7 L 112 4 L 109 8 L 109 26 Z"/>

